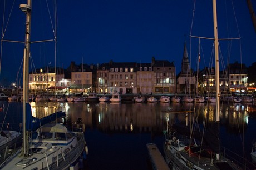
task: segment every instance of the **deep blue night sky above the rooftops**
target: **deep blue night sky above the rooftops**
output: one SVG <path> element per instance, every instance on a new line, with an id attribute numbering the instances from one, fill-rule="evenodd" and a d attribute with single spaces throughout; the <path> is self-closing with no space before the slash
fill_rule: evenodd
<path id="1" fill-rule="evenodd" d="M 25 14 L 19 10 L 19 4 L 26 2 L 16 0 L 12 13 L 13 1 L 6 2 L 4 39 L 24 41 Z M 4 0 L 0 0 L 1 26 L 3 3 Z M 224 64 L 228 61 L 240 63 L 242 60 L 246 66 L 250 66 L 256 61 L 256 33 L 246 1 L 234 1 L 234 9 L 230 0 L 221 0 L 217 4 L 219 38 L 241 37 L 240 41 L 233 40 L 232 43 L 220 42 Z M 48 6 L 55 27 L 52 0 L 48 0 Z M 193 7 L 192 0 L 57 1 L 56 65 L 67 68 L 71 61 L 76 64 L 101 64 L 111 59 L 114 62 L 150 63 L 154 56 L 159 60 L 174 61 L 178 74 L 186 41 L 191 67 L 196 69 L 198 39 L 193 38 L 190 43 L 190 30 L 194 36 L 213 38 L 214 34 L 211 1 L 196 1 L 191 29 Z M 46 1 L 33 0 L 31 41 L 53 39 L 51 19 Z M 213 41 L 201 40 L 200 67 L 209 66 L 212 46 Z M 23 47 L 22 43 L 3 42 L 0 86 L 16 82 L 23 58 Z M 51 66 L 55 66 L 53 42 L 32 44 L 31 54 L 33 67 L 45 67 L 50 62 Z"/>

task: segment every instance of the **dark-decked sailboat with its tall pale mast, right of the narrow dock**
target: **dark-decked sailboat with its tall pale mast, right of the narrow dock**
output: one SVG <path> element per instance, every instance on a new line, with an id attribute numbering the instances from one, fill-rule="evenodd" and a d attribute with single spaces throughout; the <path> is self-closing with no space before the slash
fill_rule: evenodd
<path id="1" fill-rule="evenodd" d="M 214 14 L 214 49 L 215 49 L 215 87 L 216 109 L 215 120 L 211 129 L 204 136 L 195 129 L 189 127 L 176 127 L 174 133 L 168 128 L 165 131 L 164 153 L 166 163 L 171 169 L 242 169 L 233 161 L 226 158 L 220 152 L 219 126 L 220 126 L 220 89 L 219 89 L 219 51 L 218 51 L 218 27 L 216 16 L 216 0 L 213 0 Z M 168 119 L 168 117 L 167 117 Z M 188 134 L 181 134 L 181 131 Z M 180 134 L 179 134 L 180 132 Z M 191 134 L 191 132 L 194 133 Z M 197 134 L 199 140 L 196 139 Z M 205 141 L 200 138 L 205 137 Z M 204 144 L 204 143 L 207 144 Z"/>

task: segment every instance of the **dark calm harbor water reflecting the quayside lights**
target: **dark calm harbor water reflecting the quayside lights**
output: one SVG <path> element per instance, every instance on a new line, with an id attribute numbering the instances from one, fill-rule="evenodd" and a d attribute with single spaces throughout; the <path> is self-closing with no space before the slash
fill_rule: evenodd
<path id="1" fill-rule="evenodd" d="M 0 101 L 3 129 L 19 131 L 22 102 Z M 151 169 L 147 143 L 155 143 L 164 156 L 163 131 L 168 124 L 185 123 L 199 113 L 203 126 L 214 119 L 215 104 L 194 103 L 89 103 L 31 102 L 32 115 L 38 118 L 64 111 L 68 123 L 85 124 L 88 156 L 85 169 Z M 193 111 L 186 113 L 186 111 Z M 168 118 L 168 119 L 167 119 Z M 206 119 L 207 118 L 207 119 Z M 206 121 L 207 120 L 207 121 Z M 63 122 L 63 119 L 61 120 Z M 220 112 L 222 146 L 251 162 L 251 146 L 256 138 L 256 105 L 225 103 Z"/>

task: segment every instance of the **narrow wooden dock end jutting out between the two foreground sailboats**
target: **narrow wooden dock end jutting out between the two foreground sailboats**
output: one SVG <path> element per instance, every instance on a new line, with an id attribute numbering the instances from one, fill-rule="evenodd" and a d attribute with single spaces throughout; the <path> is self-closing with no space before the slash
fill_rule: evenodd
<path id="1" fill-rule="evenodd" d="M 153 169 L 170 170 L 156 144 L 148 143 L 147 150 Z"/>

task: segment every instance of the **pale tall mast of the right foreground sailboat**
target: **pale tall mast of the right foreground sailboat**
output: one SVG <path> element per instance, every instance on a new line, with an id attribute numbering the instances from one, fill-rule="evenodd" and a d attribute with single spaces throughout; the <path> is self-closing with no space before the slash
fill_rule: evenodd
<path id="1" fill-rule="evenodd" d="M 218 41 L 218 24 L 216 0 L 213 0 L 213 24 L 214 24 L 214 51 L 215 51 L 215 87 L 216 87 L 216 114 L 215 121 L 219 122 L 220 112 L 220 86 L 219 86 L 219 41 Z"/>

